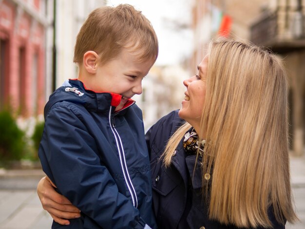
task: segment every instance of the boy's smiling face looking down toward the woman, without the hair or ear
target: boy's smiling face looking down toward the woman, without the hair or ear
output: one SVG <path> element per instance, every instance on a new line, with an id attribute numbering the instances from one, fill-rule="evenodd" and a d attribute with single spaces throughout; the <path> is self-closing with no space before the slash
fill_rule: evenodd
<path id="1" fill-rule="evenodd" d="M 91 80 L 90 89 L 95 92 L 112 92 L 122 95 L 120 110 L 128 98 L 142 93 L 142 80 L 151 69 L 154 59 L 137 61 L 136 54 L 123 48 L 113 60 L 96 67 L 96 74 Z"/>

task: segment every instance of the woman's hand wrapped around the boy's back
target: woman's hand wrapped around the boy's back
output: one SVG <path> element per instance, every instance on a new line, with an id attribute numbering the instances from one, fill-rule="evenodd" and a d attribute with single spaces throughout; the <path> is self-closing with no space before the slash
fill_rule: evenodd
<path id="1" fill-rule="evenodd" d="M 56 186 L 49 177 L 41 178 L 37 186 L 37 193 L 44 210 L 47 210 L 55 222 L 61 225 L 69 225 L 67 219 L 80 217 L 78 210 L 71 202 L 55 191 Z"/>

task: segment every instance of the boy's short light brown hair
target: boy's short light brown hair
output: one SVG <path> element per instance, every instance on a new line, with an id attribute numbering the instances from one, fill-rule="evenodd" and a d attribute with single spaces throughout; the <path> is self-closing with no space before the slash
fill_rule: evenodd
<path id="1" fill-rule="evenodd" d="M 138 55 L 139 61 L 156 60 L 158 39 L 151 22 L 132 5 L 103 6 L 90 13 L 76 38 L 74 62 L 82 63 L 87 51 L 95 51 L 105 64 L 122 48 Z"/>

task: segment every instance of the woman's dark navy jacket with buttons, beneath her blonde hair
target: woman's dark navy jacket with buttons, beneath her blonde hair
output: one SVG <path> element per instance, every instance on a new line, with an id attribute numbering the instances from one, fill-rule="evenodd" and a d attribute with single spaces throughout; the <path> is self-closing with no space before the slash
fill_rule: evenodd
<path id="1" fill-rule="evenodd" d="M 152 167 L 152 205 L 158 228 L 234 229 L 233 225 L 223 225 L 208 218 L 208 206 L 202 199 L 202 172 L 197 166 L 192 177 L 196 155 L 185 153 L 182 140 L 169 168 L 166 169 L 159 160 L 168 139 L 183 123 L 178 111 L 174 111 L 161 118 L 146 133 Z M 269 219 L 275 229 L 285 228 L 275 220 L 272 211 L 269 211 Z"/>

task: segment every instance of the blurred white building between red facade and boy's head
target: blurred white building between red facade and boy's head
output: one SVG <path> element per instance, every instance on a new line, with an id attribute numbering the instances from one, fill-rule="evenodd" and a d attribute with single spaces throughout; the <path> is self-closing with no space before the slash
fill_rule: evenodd
<path id="1" fill-rule="evenodd" d="M 69 78 L 77 78 L 73 62 L 76 36 L 88 15 L 95 8 L 106 5 L 106 0 L 55 0 L 56 69 L 52 90 Z"/>

